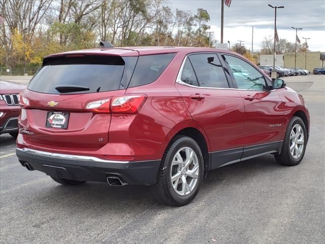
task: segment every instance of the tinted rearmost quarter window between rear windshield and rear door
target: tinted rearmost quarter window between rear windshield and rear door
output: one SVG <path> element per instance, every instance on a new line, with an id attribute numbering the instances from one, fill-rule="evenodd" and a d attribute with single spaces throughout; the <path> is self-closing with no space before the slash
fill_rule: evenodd
<path id="1" fill-rule="evenodd" d="M 155 81 L 164 72 L 175 55 L 175 53 L 168 53 L 139 56 L 128 87 L 146 85 Z"/>

